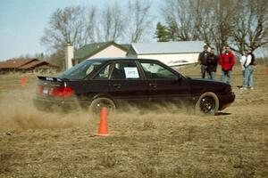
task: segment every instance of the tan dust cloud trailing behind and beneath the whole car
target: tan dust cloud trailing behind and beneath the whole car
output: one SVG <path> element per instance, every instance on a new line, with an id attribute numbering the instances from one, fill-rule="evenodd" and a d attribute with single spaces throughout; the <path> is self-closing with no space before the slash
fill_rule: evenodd
<path id="1" fill-rule="evenodd" d="M 97 125 L 99 121 L 99 116 L 90 115 L 86 109 L 74 110 L 69 113 L 40 111 L 33 105 L 34 93 L 32 88 L 19 88 L 1 93 L 0 132 L 88 127 L 88 125 Z M 154 105 L 150 109 L 140 109 L 128 105 L 109 117 L 115 122 L 131 119 L 157 120 L 174 117 L 172 115 L 178 117 L 178 115 L 185 115 L 186 112 L 187 108 L 178 111 L 174 105 Z"/>

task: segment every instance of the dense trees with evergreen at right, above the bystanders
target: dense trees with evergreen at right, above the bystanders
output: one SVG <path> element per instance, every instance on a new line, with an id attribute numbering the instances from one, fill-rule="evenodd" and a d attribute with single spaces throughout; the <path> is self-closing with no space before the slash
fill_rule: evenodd
<path id="1" fill-rule="evenodd" d="M 242 53 L 268 44 L 266 0 L 165 0 L 158 41 L 202 40 L 222 53 L 224 45 Z"/>

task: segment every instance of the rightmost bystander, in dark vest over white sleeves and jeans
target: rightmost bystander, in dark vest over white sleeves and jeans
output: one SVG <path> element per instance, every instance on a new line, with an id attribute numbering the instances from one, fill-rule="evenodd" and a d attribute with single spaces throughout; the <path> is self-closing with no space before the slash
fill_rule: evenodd
<path id="1" fill-rule="evenodd" d="M 252 49 L 247 49 L 247 60 L 244 64 L 245 68 L 245 84 L 243 85 L 243 89 L 251 89 L 253 90 L 253 71 L 255 65 L 255 55 L 252 53 Z"/>

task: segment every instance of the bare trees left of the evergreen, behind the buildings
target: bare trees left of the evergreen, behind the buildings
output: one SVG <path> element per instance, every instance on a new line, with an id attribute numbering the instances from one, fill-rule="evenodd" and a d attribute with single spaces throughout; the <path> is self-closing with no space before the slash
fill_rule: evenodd
<path id="1" fill-rule="evenodd" d="M 151 7 L 147 0 L 129 0 L 127 6 L 115 2 L 103 9 L 80 5 L 59 8 L 51 15 L 41 44 L 61 51 L 67 43 L 80 48 L 95 42 L 142 41 L 152 25 Z"/>

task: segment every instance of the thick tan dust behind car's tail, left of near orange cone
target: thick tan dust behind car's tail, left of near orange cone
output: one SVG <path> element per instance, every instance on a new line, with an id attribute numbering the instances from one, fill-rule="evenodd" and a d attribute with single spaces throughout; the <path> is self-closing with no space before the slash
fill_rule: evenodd
<path id="1" fill-rule="evenodd" d="M 89 117 L 85 111 L 68 114 L 39 111 L 33 105 L 33 95 L 34 92 L 29 89 L 1 94 L 0 131 L 69 128 L 88 124 Z"/>

